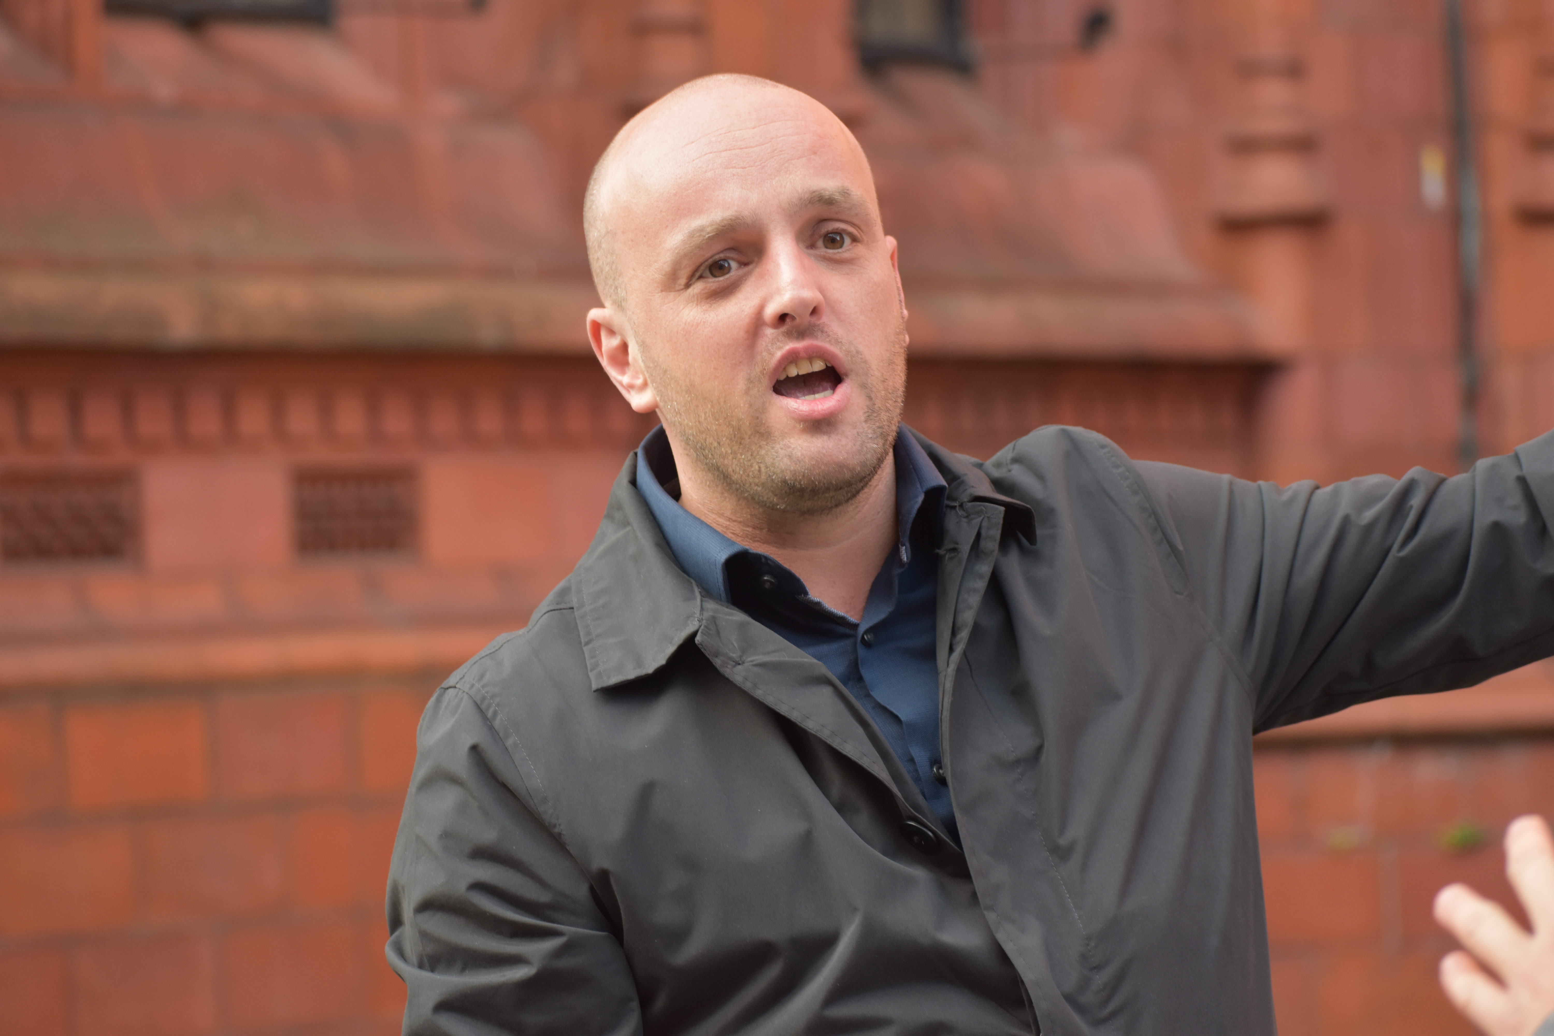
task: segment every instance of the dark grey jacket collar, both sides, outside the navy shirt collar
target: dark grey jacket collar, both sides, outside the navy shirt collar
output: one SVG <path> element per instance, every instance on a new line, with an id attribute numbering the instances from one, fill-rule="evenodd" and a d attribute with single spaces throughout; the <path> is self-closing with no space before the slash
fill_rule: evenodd
<path id="1" fill-rule="evenodd" d="M 1005 531 L 1035 541 L 1035 513 L 1027 505 L 996 492 L 976 461 L 906 430 L 945 477 L 946 506 L 998 505 L 1005 513 Z M 653 511 L 637 492 L 636 450 L 615 478 L 598 533 L 573 578 L 578 634 L 595 691 L 660 669 L 696 635 L 707 606 L 713 604 L 674 561 Z"/>

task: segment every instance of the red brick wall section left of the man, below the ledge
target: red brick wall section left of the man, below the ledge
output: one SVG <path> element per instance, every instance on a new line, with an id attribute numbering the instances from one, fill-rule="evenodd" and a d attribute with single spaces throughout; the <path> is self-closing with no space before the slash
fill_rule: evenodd
<path id="1" fill-rule="evenodd" d="M 384 878 L 438 679 L 0 699 L 0 1028 L 399 1031 Z"/>

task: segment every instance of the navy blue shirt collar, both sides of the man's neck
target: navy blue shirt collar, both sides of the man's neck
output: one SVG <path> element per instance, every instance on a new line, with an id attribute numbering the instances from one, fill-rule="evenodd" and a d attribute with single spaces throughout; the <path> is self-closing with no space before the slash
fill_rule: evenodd
<path id="1" fill-rule="evenodd" d="M 900 536 L 897 558 L 904 564 L 911 550 L 912 525 L 918 514 L 925 513 L 923 503 L 929 505 L 928 514 L 936 516 L 937 525 L 937 516 L 943 513 L 946 483 L 904 426 L 897 429 L 892 457 Z M 685 570 L 685 575 L 701 584 L 701 589 L 712 596 L 729 603 L 732 596 L 729 592 L 729 559 L 755 551 L 733 542 L 682 508 L 676 499 L 678 491 L 679 474 L 674 469 L 674 454 L 670 450 L 668 436 L 664 435 L 664 426 L 659 426 L 648 432 L 642 446 L 637 447 L 637 492 L 653 511 L 674 561 Z"/>

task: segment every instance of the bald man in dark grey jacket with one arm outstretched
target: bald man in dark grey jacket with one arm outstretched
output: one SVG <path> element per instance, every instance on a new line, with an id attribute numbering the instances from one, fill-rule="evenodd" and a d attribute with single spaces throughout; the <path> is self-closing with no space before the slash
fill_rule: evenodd
<path id="1" fill-rule="evenodd" d="M 1251 735 L 1554 651 L 1554 440 L 1326 489 L 949 454 L 862 151 L 760 79 L 642 112 L 584 224 L 662 427 L 427 705 L 406 1031 L 1273 1033 Z"/>

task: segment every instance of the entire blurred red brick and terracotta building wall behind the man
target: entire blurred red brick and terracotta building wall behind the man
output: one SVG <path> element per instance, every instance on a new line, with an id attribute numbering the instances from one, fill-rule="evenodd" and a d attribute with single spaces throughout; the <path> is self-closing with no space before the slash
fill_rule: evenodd
<path id="1" fill-rule="evenodd" d="M 1335 480 L 1554 424 L 1554 6 L 1462 8 L 1465 104 L 1444 0 L 0 0 L 0 1030 L 398 1030 L 415 722 L 646 432 L 578 213 L 692 76 L 859 135 L 949 446 Z M 1428 902 L 1554 812 L 1551 671 L 1256 760 L 1280 1030 L 1467 1031 Z"/>

